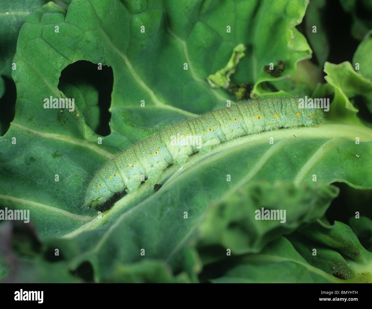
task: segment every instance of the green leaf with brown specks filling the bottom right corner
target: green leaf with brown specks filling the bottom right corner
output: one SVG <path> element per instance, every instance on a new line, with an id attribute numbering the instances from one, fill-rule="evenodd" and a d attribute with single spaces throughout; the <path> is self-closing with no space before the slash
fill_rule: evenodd
<path id="1" fill-rule="evenodd" d="M 223 274 L 211 282 L 371 282 L 372 253 L 360 245 L 350 227 L 317 221 L 310 229 L 300 228 L 313 241 L 294 232 L 273 240 L 259 254 L 228 257 L 216 264 Z"/>

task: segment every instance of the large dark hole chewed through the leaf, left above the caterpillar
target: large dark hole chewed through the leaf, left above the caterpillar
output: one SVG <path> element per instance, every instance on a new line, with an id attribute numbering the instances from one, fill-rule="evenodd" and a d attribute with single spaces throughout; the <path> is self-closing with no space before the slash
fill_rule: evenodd
<path id="1" fill-rule="evenodd" d="M 74 98 L 76 107 L 84 116 L 86 124 L 97 134 L 110 134 L 112 68 L 80 60 L 68 65 L 61 72 L 58 89 L 67 98 Z"/>

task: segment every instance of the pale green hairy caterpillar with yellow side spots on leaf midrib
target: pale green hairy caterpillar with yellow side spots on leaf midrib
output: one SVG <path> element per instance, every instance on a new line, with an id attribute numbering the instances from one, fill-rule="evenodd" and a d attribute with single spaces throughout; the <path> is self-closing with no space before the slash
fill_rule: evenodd
<path id="1" fill-rule="evenodd" d="M 130 193 L 141 182 L 156 181 L 172 164 L 182 165 L 196 152 L 228 140 L 279 128 L 313 126 L 323 121 L 321 108 L 299 108 L 299 98 L 279 97 L 240 101 L 177 123 L 141 140 L 94 174 L 84 206 L 96 208 L 115 193 Z"/>

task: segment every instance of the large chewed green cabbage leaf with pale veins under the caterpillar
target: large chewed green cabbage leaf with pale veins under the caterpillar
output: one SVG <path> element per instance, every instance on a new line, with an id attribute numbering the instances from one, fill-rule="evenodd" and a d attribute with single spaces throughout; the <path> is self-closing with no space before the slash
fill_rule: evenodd
<path id="1" fill-rule="evenodd" d="M 91 175 L 119 150 L 179 120 L 225 106 L 228 100 L 233 103 L 233 95 L 210 87 L 206 78 L 227 64 L 238 44 L 247 46 L 246 56 L 231 81 L 254 85 L 253 95 L 273 95 L 269 82 L 289 77 L 297 62 L 311 55 L 295 28 L 307 3 L 79 0 L 63 8 L 49 2 L 29 14 L 14 57 L 15 118 L 0 139 L 1 209 L 29 209 L 47 247 L 47 256 L 41 256 L 16 246 L 23 262 L 33 260 L 25 262 L 29 272 L 22 280 L 40 275 L 45 282 L 55 267 L 50 280 L 198 282 L 201 261 L 193 249 L 198 226 L 211 201 L 223 199 L 242 183 L 282 179 L 313 188 L 318 182 L 339 181 L 371 189 L 371 173 L 365 171 L 371 166 L 372 130 L 356 122 L 355 111 L 345 118 L 346 104 L 332 103 L 333 117 L 318 127 L 223 143 L 210 153 L 193 155 L 182 168 L 167 168 L 155 193 L 153 184 L 144 183 L 102 214 L 81 208 Z M 58 88 L 62 70 L 80 60 L 112 68 L 107 136 L 95 133 L 100 121 L 92 87 L 71 77 Z M 286 62 L 280 78 L 263 72 L 264 65 L 279 60 Z M 351 86 L 340 82 L 344 71 L 330 65 L 329 74 L 331 85 L 321 90 L 332 87 L 336 95 L 343 91 L 344 102 L 369 89 L 355 72 L 346 75 Z M 277 95 L 286 90 L 279 89 Z M 44 99 L 50 96 L 76 97 L 75 110 L 45 109 Z M 360 144 L 355 144 L 356 137 Z M 230 182 L 226 175 L 231 175 Z M 311 218 L 323 213 L 324 205 L 319 209 Z M 302 222 L 294 221 L 294 228 Z M 48 260 L 51 248 L 60 248 L 61 260 Z M 322 273 L 314 276 L 315 281 L 328 280 Z"/>

